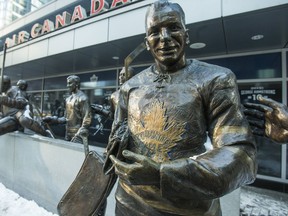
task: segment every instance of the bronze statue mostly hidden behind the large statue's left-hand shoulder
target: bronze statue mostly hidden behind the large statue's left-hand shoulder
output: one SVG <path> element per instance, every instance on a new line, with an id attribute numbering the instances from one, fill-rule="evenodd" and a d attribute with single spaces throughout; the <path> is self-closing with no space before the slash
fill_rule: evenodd
<path id="1" fill-rule="evenodd" d="M 134 75 L 134 69 L 132 67 L 128 67 L 127 74 L 125 74 L 125 67 L 123 67 L 119 73 L 119 85 L 122 86 L 127 80 L 129 80 Z M 109 117 L 111 119 L 114 118 L 115 108 L 119 101 L 119 90 L 113 92 L 110 96 L 110 109 L 104 109 L 102 105 L 99 104 L 91 104 L 92 112 Z"/>

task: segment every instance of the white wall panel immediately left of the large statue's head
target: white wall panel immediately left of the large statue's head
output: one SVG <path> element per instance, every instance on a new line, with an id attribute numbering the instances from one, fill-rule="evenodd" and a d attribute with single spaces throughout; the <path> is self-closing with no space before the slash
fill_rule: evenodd
<path id="1" fill-rule="evenodd" d="M 109 41 L 145 32 L 146 7 L 119 14 L 109 19 Z"/>

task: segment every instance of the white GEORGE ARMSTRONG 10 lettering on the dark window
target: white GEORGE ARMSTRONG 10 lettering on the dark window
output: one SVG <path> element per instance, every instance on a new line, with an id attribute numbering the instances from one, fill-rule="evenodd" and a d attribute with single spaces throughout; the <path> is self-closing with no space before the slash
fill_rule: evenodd
<path id="1" fill-rule="evenodd" d="M 276 95 L 275 89 L 265 89 L 263 86 L 253 86 L 250 89 L 240 90 L 241 98 L 256 101 L 260 96 L 271 97 Z"/>

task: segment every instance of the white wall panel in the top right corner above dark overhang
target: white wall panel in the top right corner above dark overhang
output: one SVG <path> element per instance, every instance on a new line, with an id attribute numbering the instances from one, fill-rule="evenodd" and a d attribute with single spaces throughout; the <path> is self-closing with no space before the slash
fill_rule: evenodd
<path id="1" fill-rule="evenodd" d="M 288 0 L 222 0 L 223 16 L 287 4 Z"/>

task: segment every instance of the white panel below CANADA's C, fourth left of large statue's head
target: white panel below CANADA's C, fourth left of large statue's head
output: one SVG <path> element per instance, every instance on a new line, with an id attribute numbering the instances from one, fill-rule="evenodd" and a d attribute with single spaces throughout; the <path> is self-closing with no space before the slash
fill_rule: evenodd
<path id="1" fill-rule="evenodd" d="M 42 40 L 29 45 L 28 60 L 34 60 L 47 56 L 48 40 Z"/>

